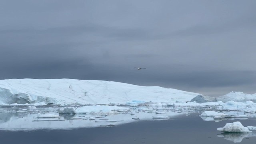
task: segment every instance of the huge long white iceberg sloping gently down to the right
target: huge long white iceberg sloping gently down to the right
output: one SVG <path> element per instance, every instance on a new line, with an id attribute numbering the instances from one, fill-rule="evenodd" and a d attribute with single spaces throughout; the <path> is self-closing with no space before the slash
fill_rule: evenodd
<path id="1" fill-rule="evenodd" d="M 74 79 L 0 80 L 0 104 L 125 104 L 190 101 L 199 94 L 159 86 Z"/>

